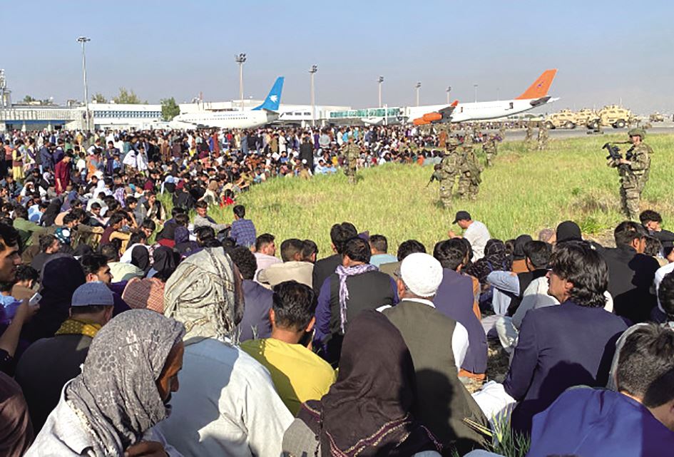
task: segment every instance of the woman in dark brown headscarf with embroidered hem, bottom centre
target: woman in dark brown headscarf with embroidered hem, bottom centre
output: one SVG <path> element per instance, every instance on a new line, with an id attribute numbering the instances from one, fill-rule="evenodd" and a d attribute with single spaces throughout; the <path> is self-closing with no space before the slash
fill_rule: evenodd
<path id="1" fill-rule="evenodd" d="M 337 382 L 320 401 L 302 405 L 283 436 L 284 454 L 407 457 L 441 451 L 414 419 L 415 376 L 398 329 L 379 312 L 362 312 L 344 335 Z"/>

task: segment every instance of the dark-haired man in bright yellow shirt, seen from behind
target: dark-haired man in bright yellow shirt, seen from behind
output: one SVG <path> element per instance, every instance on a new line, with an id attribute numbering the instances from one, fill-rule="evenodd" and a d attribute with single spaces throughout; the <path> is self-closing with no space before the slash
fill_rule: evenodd
<path id="1" fill-rule="evenodd" d="M 335 370 L 311 351 L 316 296 L 311 287 L 287 281 L 274 287 L 269 311 L 272 337 L 241 344 L 272 375 L 276 391 L 293 416 L 307 400 L 320 400 L 335 382 Z"/>

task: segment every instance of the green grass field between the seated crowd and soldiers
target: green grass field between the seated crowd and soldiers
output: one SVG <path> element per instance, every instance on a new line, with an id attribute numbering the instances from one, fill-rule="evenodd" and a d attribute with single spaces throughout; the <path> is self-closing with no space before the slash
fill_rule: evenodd
<path id="1" fill-rule="evenodd" d="M 623 220 L 618 195 L 618 172 L 606 166 L 609 140 L 618 135 L 551 140 L 548 150 L 529 152 L 521 142 L 501 143 L 492 168 L 482 173 L 476 201 L 456 200 L 445 210 L 439 205 L 438 184 L 426 188 L 430 167 L 384 165 L 359 170 L 358 183 L 347 183 L 342 174 L 317 176 L 312 180 L 280 178 L 257 185 L 239 195 L 247 217 L 258 233 L 270 232 L 277 241 L 289 237 L 317 242 L 319 257 L 330 251 L 330 227 L 349 221 L 359 231 L 383 234 L 389 251 L 414 238 L 432 249 L 446 237 L 454 212 L 468 210 L 486 223 L 493 237 L 503 240 L 529 233 L 536 237 L 544 227 L 556 227 L 571 219 L 587 235 L 606 234 Z M 641 209 L 658 210 L 665 226 L 674 225 L 674 202 L 670 198 L 669 165 L 674 163 L 674 135 L 649 135 L 655 153 L 650 180 Z M 621 145 L 623 152 L 628 145 Z M 484 163 L 484 158 L 480 157 Z M 210 210 L 218 222 L 231 222 L 231 209 Z"/>

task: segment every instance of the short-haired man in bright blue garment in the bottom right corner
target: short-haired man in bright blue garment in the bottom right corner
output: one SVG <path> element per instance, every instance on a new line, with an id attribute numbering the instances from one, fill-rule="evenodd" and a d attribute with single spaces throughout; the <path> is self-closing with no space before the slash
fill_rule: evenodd
<path id="1" fill-rule="evenodd" d="M 568 389 L 533 418 L 527 456 L 666 456 L 674 448 L 674 332 L 640 325 L 620 350 L 618 391 Z"/>

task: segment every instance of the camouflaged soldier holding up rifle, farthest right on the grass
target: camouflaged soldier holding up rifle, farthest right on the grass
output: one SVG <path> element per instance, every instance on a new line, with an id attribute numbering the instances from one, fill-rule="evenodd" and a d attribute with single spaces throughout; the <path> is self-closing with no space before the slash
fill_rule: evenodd
<path id="1" fill-rule="evenodd" d="M 639 201 L 641 192 L 648 181 L 650 172 L 650 155 L 653 149 L 643 143 L 645 132 L 641 128 L 633 128 L 628 132 L 632 147 L 627 150 L 625 158 L 609 159 L 608 166 L 618 168 L 621 177 L 621 207 L 631 220 L 639 220 Z"/>

